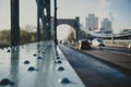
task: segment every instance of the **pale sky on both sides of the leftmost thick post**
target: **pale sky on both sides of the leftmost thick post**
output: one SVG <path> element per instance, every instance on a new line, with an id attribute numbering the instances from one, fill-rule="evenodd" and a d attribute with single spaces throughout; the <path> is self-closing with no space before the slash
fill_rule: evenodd
<path id="1" fill-rule="evenodd" d="M 0 29 L 10 28 L 10 1 L 0 0 Z M 35 25 L 37 22 L 36 0 L 20 0 L 20 26 Z"/>

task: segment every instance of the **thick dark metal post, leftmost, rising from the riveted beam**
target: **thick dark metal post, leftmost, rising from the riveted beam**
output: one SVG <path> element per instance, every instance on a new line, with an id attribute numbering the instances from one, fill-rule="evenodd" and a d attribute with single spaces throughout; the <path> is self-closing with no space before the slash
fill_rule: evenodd
<path id="1" fill-rule="evenodd" d="M 11 46 L 20 45 L 19 0 L 11 0 Z"/>

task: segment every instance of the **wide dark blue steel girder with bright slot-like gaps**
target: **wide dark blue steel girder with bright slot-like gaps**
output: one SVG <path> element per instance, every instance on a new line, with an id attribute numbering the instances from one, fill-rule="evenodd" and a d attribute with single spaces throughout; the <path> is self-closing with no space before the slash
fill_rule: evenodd
<path id="1" fill-rule="evenodd" d="M 40 38 L 39 18 L 41 18 L 44 39 L 50 39 L 50 0 L 36 0 L 37 3 L 37 38 Z"/>

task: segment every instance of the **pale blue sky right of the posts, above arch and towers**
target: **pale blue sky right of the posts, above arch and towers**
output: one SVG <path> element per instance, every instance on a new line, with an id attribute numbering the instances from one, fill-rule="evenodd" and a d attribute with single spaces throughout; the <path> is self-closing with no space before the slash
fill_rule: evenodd
<path id="1" fill-rule="evenodd" d="M 63 4 L 64 3 L 64 4 Z M 131 0 L 58 0 L 58 17 L 81 17 L 85 26 L 85 17 L 94 13 L 99 21 L 112 21 L 114 33 L 131 28 Z"/>

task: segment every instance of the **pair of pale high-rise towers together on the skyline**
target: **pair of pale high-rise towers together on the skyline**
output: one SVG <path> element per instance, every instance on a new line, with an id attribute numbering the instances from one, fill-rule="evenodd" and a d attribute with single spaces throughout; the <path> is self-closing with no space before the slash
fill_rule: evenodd
<path id="1" fill-rule="evenodd" d="M 111 21 L 108 17 L 104 17 L 102 22 L 98 23 L 98 18 L 94 13 L 90 13 L 85 18 L 84 29 L 86 32 L 100 32 L 100 33 L 111 33 L 112 26 Z M 99 27 L 98 27 L 99 26 Z"/>

